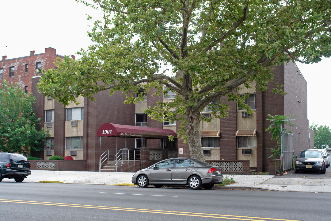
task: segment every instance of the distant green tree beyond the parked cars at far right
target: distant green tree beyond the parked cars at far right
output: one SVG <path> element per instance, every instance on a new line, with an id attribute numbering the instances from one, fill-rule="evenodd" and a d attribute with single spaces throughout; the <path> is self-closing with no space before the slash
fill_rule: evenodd
<path id="1" fill-rule="evenodd" d="M 318 126 L 317 124 L 311 125 L 311 128 L 314 130 L 314 147 L 315 148 L 328 148 L 331 147 L 331 130 L 329 127 Z"/>

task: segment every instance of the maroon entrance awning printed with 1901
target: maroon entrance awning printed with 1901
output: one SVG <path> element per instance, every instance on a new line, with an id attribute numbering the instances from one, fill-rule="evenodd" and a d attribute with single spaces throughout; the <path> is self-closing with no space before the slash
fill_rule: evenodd
<path id="1" fill-rule="evenodd" d="M 98 137 L 131 137 L 131 138 L 168 138 L 177 137 L 173 130 L 131 125 L 105 123 L 97 131 Z"/>

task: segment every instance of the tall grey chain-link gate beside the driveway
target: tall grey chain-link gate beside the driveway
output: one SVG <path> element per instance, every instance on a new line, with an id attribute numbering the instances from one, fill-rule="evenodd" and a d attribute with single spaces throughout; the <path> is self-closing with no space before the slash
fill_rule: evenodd
<path id="1" fill-rule="evenodd" d="M 283 157 L 283 170 L 293 167 L 293 134 L 282 132 L 281 135 L 281 156 Z"/>

